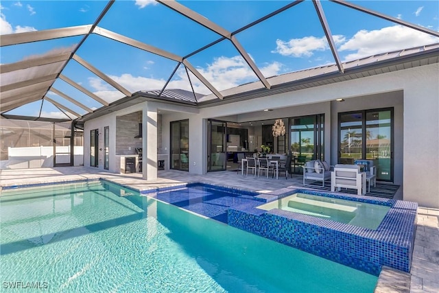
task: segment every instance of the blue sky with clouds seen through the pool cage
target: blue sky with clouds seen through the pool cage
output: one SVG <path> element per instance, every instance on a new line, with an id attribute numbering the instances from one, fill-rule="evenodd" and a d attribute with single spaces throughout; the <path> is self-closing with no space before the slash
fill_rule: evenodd
<path id="1" fill-rule="evenodd" d="M 233 32 L 289 1 L 178 1 L 224 29 Z M 438 43 L 438 38 L 340 4 L 321 1 L 342 60 L 355 60 L 397 49 Z M 107 1 L 1 1 L 1 34 L 89 25 L 97 19 Z M 439 30 L 439 1 L 353 1 L 356 5 L 388 14 L 403 21 Z M 178 56 L 219 38 L 193 21 L 150 0 L 116 1 L 99 27 L 123 34 Z M 266 78 L 286 72 L 333 64 L 333 56 L 311 1 L 300 3 L 267 21 L 236 35 Z M 73 47 L 79 37 L 62 38 L 1 48 L 1 64 Z M 78 56 L 109 75 L 131 92 L 161 89 L 176 62 L 114 40 L 93 34 L 78 50 Z M 239 52 L 228 40 L 188 58 L 189 62 L 217 89 L 257 81 Z M 112 102 L 124 95 L 76 62 L 62 72 L 99 97 Z M 191 76 L 193 78 L 193 76 Z M 195 80 L 195 91 L 209 89 Z M 58 80 L 54 87 L 91 108 L 101 104 Z M 190 89 L 183 67 L 167 87 Z M 48 96 L 80 114 L 82 108 L 49 92 Z M 38 104 L 39 103 L 39 104 Z M 38 111 L 40 102 L 23 106 L 20 113 Z M 19 112 L 19 109 L 14 110 Z M 10 114 L 16 114 L 11 111 Z M 44 115 L 62 116 L 58 108 L 43 104 Z"/>

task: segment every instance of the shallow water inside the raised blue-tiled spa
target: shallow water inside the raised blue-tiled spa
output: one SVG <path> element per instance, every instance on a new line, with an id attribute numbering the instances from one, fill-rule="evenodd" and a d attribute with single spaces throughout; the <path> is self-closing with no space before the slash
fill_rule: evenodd
<path id="1" fill-rule="evenodd" d="M 266 211 L 270 211 L 271 209 L 283 209 L 285 211 L 303 213 L 335 222 L 376 230 L 386 213 L 390 210 L 390 207 L 380 204 L 297 193 L 273 202 L 268 202 L 267 204 L 262 204 L 258 209 L 264 209 Z"/>

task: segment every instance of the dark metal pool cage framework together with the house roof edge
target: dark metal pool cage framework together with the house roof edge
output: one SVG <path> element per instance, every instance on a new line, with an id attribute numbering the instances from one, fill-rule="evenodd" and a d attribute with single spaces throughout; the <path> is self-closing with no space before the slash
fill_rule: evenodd
<path id="1" fill-rule="evenodd" d="M 331 49 L 335 63 L 327 66 L 305 69 L 302 71 L 285 73 L 282 75 L 276 75 L 270 78 L 266 78 L 261 73 L 261 69 L 257 67 L 257 65 L 254 63 L 254 60 L 252 60 L 246 49 L 244 49 L 244 47 L 239 42 L 237 34 L 239 32 L 244 32 L 245 30 L 248 30 L 253 25 L 257 25 L 258 23 L 267 21 L 268 19 L 276 16 L 277 14 L 280 14 L 285 10 L 294 9 L 298 4 L 302 3 L 303 1 L 291 1 L 284 5 L 282 8 L 279 8 L 274 12 L 268 12 L 261 18 L 257 19 L 257 21 L 253 21 L 252 23 L 244 25 L 243 27 L 239 27 L 233 32 L 226 30 L 224 27 L 221 27 L 217 23 L 210 21 L 198 12 L 187 8 L 181 3 L 178 3 L 176 1 L 157 1 L 161 5 L 164 5 L 166 8 L 174 10 L 178 14 L 185 16 L 187 19 L 190 19 L 197 25 L 201 25 L 202 27 L 206 27 L 211 32 L 215 32 L 215 34 L 218 35 L 217 40 L 214 40 L 212 43 L 205 45 L 200 49 L 192 51 L 190 54 L 187 54 L 187 56 L 178 56 L 169 51 L 166 51 L 165 49 L 154 47 L 139 40 L 134 40 L 128 36 L 106 30 L 104 27 L 99 27 L 99 22 L 102 21 L 102 19 L 106 16 L 115 1 L 108 1 L 97 19 L 95 19 L 94 23 L 91 23 L 89 25 L 78 25 L 52 30 L 41 30 L 36 32 L 23 32 L 17 34 L 2 35 L 0 36 L 1 47 L 19 45 L 24 43 L 47 42 L 49 40 L 67 38 L 72 36 L 79 36 L 80 41 L 75 46 L 67 48 L 56 47 L 43 55 L 31 54 L 27 58 L 19 62 L 0 65 L 0 114 L 4 118 L 8 119 L 35 119 L 46 121 L 62 121 L 69 119 L 74 120 L 80 119 L 82 116 L 84 116 L 82 115 L 82 113 L 79 113 L 79 111 L 73 110 L 65 104 L 62 104 L 62 102 L 56 102 L 54 99 L 48 97 L 47 93 L 49 93 L 49 91 L 52 93 L 56 93 L 57 95 L 62 97 L 64 101 L 68 101 L 80 107 L 82 110 L 85 111 L 85 116 L 89 118 L 95 116 L 90 115 L 91 113 L 99 113 L 99 115 L 102 115 L 102 113 L 104 113 L 104 109 L 108 107 L 115 108 L 115 106 L 120 105 L 123 101 L 137 103 L 145 99 L 158 99 L 163 102 L 182 103 L 191 106 L 210 106 L 216 103 L 234 102 L 239 99 L 250 99 L 253 97 L 272 95 L 274 93 L 304 89 L 310 86 L 328 84 L 331 82 L 340 82 L 342 80 L 349 80 L 352 78 L 361 78 L 368 75 L 374 75 L 406 68 L 406 66 L 414 67 L 429 64 L 431 62 L 438 62 L 438 44 L 426 45 L 423 47 L 416 47 L 411 49 L 401 49 L 399 51 L 392 51 L 386 54 L 370 56 L 368 58 L 361 58 L 355 61 L 342 62 L 340 60 L 337 47 L 334 43 L 334 37 L 331 34 L 331 30 L 329 29 L 329 25 L 322 5 L 320 1 L 313 0 L 313 6 L 318 15 L 322 30 L 327 38 L 327 42 Z M 429 30 L 428 28 L 421 27 L 420 25 L 407 23 L 406 21 L 402 21 L 401 19 L 397 19 L 392 16 L 382 14 L 380 12 L 360 7 L 359 5 L 355 5 L 351 2 L 336 0 L 333 0 L 332 2 L 344 5 L 353 10 L 358 10 L 360 12 L 370 14 L 372 16 L 377 16 L 387 21 L 392 21 L 393 23 L 403 25 L 405 27 L 410 27 L 413 30 L 418 30 L 431 36 L 439 37 L 439 33 L 434 30 Z M 128 89 L 125 89 L 123 86 L 121 86 L 119 82 L 116 82 L 115 80 L 110 78 L 110 76 L 106 75 L 98 68 L 94 67 L 90 62 L 78 56 L 78 49 L 81 46 L 84 46 L 84 44 L 88 42 L 89 36 L 92 35 L 104 36 L 105 38 L 108 38 L 110 40 L 115 40 L 119 43 L 130 45 L 131 47 L 147 51 L 158 56 L 162 56 L 169 60 L 175 61 L 177 65 L 174 71 L 170 73 L 169 78 L 167 82 L 165 82 L 165 86 L 163 86 L 162 89 L 145 89 L 144 91 L 132 93 L 128 91 Z M 189 62 L 189 57 L 202 53 L 206 49 L 209 49 L 209 47 L 215 45 L 216 43 L 219 43 L 222 40 L 230 41 L 235 49 L 237 49 L 241 58 L 245 60 L 254 75 L 257 76 L 256 82 L 241 84 L 241 86 L 220 91 L 219 89 L 216 89 L 215 86 L 211 84 L 211 82 L 209 82 L 209 80 L 198 68 L 196 68 L 191 64 L 191 62 Z M 119 91 L 120 93 L 119 99 L 115 101 L 114 99 L 110 99 L 109 97 L 99 97 L 95 93 L 88 91 L 88 89 L 86 89 L 81 84 L 78 84 L 77 82 L 71 80 L 71 78 L 69 78 L 67 75 L 64 75 L 64 69 L 71 62 L 78 62 L 79 65 L 86 68 L 88 71 L 91 71 L 99 78 L 117 89 L 117 91 Z M 398 67 L 398 65 L 404 66 Z M 189 80 L 197 79 L 202 82 L 202 84 L 204 84 L 204 86 L 206 86 L 206 88 L 211 91 L 211 95 L 201 95 L 199 93 L 195 93 L 195 91 L 186 91 L 182 89 L 167 89 L 167 85 L 169 84 L 171 79 L 174 78 L 174 75 L 176 74 L 178 68 L 185 69 Z M 69 96 L 62 90 L 56 89 L 56 87 L 54 86 L 56 80 L 62 80 L 69 84 L 69 86 L 73 86 L 75 89 L 78 89 L 78 91 L 80 91 L 84 95 L 91 97 L 91 99 L 94 99 L 97 103 L 102 105 L 101 108 L 91 108 L 87 104 L 79 102 L 76 97 Z M 134 99 L 134 97 L 136 97 L 137 99 Z M 139 97 L 143 97 L 143 99 L 138 99 Z M 54 117 L 41 117 L 41 115 L 31 118 L 21 117 L 18 115 L 8 115 L 8 112 L 10 110 L 40 100 L 54 104 L 56 108 L 64 113 L 65 118 L 60 119 Z M 41 104 L 41 107 L 42 106 L 43 104 Z"/>

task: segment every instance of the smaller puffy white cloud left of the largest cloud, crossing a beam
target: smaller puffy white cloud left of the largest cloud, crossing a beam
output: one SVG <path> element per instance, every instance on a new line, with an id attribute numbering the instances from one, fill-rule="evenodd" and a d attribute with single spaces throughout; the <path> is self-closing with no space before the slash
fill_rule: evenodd
<path id="1" fill-rule="evenodd" d="M 344 36 L 334 35 L 334 42 L 344 42 Z M 291 40 L 276 40 L 276 50 L 272 53 L 278 53 L 282 56 L 292 57 L 311 57 L 314 51 L 325 51 L 329 49 L 327 38 L 322 36 L 305 36 L 304 38 L 292 38 Z"/>

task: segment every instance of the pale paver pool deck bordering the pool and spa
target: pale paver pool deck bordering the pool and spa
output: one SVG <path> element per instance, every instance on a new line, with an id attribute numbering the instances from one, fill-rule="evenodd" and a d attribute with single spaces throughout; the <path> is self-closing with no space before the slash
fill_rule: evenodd
<path id="1" fill-rule="evenodd" d="M 158 171 L 156 180 L 145 181 L 142 179 L 141 174 L 113 174 L 90 167 L 0 170 L 0 185 L 2 187 L 97 178 L 106 178 L 112 182 L 140 190 L 169 187 L 189 182 L 217 184 L 259 193 L 268 193 L 285 187 L 303 189 L 302 176 L 300 175 L 294 175 L 293 178 L 288 178 L 288 180 L 283 177 L 276 180 L 265 177 L 241 176 L 237 172 L 230 171 L 193 175 L 188 172 L 163 170 Z M 399 190 L 394 199 L 401 198 L 401 190 Z M 419 207 L 416 224 L 410 274 L 391 268 L 383 268 L 375 292 L 439 292 L 439 209 Z"/>

